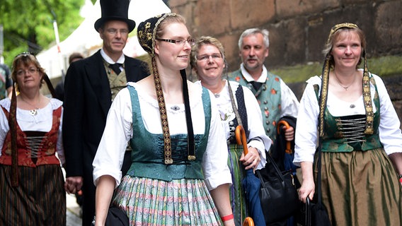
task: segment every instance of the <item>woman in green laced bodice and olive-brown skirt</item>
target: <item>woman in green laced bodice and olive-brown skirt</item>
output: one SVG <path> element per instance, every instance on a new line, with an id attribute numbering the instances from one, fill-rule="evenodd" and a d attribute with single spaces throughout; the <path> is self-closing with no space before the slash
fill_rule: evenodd
<path id="1" fill-rule="evenodd" d="M 319 136 L 322 201 L 332 225 L 402 225 L 400 122 L 384 82 L 367 69 L 364 33 L 352 23 L 335 25 L 323 52 L 323 73 L 307 81 L 297 117 L 299 198 L 316 196 Z"/>

